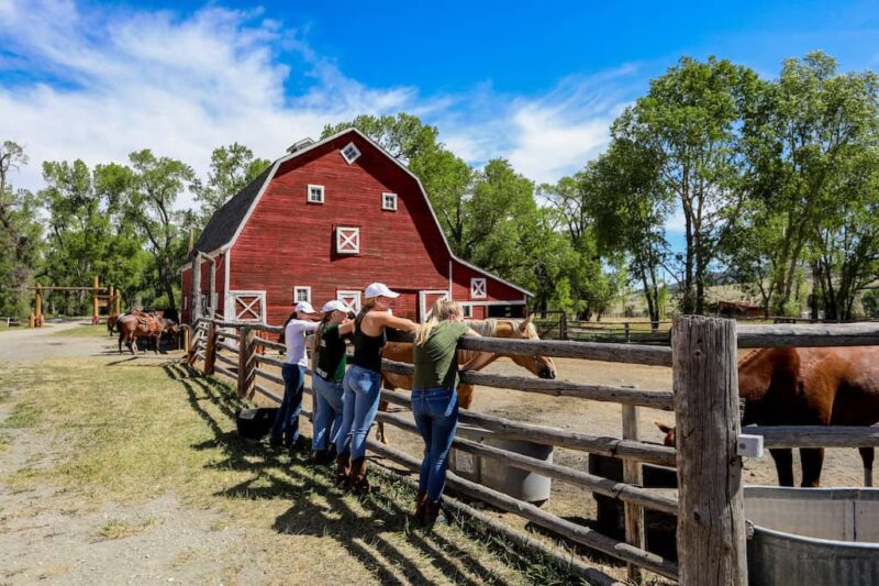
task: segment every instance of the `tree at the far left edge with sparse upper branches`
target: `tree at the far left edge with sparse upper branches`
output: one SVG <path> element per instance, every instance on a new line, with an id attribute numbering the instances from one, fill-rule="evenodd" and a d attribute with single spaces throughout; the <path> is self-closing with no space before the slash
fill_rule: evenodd
<path id="1" fill-rule="evenodd" d="M 14 189 L 10 174 L 27 164 L 24 150 L 13 141 L 0 145 L 0 314 L 24 316 L 27 285 L 41 251 L 36 198 Z"/>

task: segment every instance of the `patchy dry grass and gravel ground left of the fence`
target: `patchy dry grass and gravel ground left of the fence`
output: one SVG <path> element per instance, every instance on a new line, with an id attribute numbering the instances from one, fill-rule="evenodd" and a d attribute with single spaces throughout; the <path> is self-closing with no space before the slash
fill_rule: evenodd
<path id="1" fill-rule="evenodd" d="M 358 499 L 305 453 L 245 443 L 229 386 L 110 340 L 0 368 L 0 583 L 569 581 L 472 527 L 410 527 L 388 473 Z"/>

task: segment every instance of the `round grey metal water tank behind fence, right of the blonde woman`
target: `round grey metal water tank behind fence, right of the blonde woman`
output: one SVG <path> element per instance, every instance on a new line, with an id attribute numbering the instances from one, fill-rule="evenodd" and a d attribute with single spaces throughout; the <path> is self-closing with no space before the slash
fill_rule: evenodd
<path id="1" fill-rule="evenodd" d="M 524 440 L 501 439 L 497 433 L 472 425 L 458 424 L 458 436 L 509 452 L 553 463 L 553 446 Z M 481 457 L 452 449 L 449 469 L 475 483 L 538 507 L 549 499 L 553 479 L 534 472 L 523 471 L 500 460 Z"/>

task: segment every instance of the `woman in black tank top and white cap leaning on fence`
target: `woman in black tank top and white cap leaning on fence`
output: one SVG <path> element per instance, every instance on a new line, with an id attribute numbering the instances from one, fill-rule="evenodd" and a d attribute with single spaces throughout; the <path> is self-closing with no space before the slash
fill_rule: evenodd
<path id="1" fill-rule="evenodd" d="M 351 483 L 357 494 L 369 491 L 366 479 L 366 436 L 376 419 L 381 396 L 381 349 L 385 329 L 413 331 L 419 324 L 391 316 L 388 311 L 400 294 L 383 283 L 366 288 L 366 300 L 357 318 L 340 327 L 343 334 L 354 332 L 354 357 L 345 374 L 344 417 L 338 434 L 337 482 Z M 347 441 L 346 441 L 347 440 Z"/>

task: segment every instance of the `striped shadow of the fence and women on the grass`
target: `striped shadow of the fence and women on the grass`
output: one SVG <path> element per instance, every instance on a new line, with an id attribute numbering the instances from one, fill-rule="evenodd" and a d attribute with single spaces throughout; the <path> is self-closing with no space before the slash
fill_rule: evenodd
<path id="1" fill-rule="evenodd" d="M 216 496 L 240 499 L 287 499 L 290 507 L 272 523 L 278 533 L 332 538 L 354 559 L 366 565 L 382 584 L 435 583 L 425 575 L 432 565 L 457 584 L 501 584 L 503 581 L 472 553 L 452 543 L 437 532 L 415 529 L 410 524 L 412 495 L 400 483 L 377 478 L 377 490 L 355 499 L 333 484 L 329 466 L 309 465 L 307 452 L 289 454 L 260 443 L 248 443 L 234 431 L 226 431 L 215 417 L 234 419 L 241 402 L 234 391 L 210 377 L 189 375 L 180 363 L 163 365 L 169 378 L 179 383 L 192 410 L 213 432 L 213 438 L 196 444 L 194 450 L 221 449 L 225 457 L 212 467 L 249 474 L 249 478 Z M 210 401 L 213 409 L 205 409 Z M 214 412 L 212 412 L 214 411 Z M 412 551 L 404 551 L 394 541 L 405 540 Z M 402 578 L 402 579 L 401 579 Z"/>

